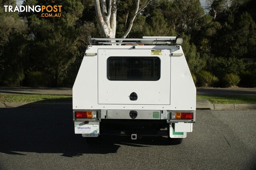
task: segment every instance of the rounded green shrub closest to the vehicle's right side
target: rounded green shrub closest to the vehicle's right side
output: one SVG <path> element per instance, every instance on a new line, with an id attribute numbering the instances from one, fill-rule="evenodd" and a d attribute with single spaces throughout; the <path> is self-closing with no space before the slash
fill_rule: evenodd
<path id="1" fill-rule="evenodd" d="M 210 72 L 202 70 L 197 75 L 198 86 L 213 87 L 218 82 L 218 78 Z"/>

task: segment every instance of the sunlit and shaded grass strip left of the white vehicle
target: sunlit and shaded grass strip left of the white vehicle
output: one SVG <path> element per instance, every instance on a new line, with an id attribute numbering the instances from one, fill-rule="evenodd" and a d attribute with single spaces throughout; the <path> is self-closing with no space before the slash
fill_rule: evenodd
<path id="1" fill-rule="evenodd" d="M 0 102 L 18 103 L 63 103 L 72 102 L 72 95 L 48 95 L 48 94 L 1 94 Z"/>

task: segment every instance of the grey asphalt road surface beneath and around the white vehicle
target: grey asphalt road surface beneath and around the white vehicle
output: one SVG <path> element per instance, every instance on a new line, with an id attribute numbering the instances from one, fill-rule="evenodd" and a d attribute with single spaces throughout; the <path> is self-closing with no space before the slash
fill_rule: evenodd
<path id="1" fill-rule="evenodd" d="M 74 134 L 69 109 L 0 109 L 0 169 L 255 169 L 256 110 L 197 111 L 181 145 Z"/>

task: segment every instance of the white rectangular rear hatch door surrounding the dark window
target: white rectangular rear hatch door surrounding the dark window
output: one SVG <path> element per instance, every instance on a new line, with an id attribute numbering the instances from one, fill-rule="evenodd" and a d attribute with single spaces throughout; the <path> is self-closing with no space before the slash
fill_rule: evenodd
<path id="1" fill-rule="evenodd" d="M 98 50 L 98 104 L 169 105 L 170 104 L 170 50 L 151 55 L 151 49 Z M 161 77 L 157 81 L 111 81 L 107 78 L 107 59 L 113 56 L 159 57 Z M 132 101 L 132 92 L 138 100 Z"/>

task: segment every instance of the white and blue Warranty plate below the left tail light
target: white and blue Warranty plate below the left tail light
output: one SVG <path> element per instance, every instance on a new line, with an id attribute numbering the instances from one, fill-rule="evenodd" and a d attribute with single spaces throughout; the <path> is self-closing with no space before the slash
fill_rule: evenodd
<path id="1" fill-rule="evenodd" d="M 76 134 L 98 134 L 99 125 L 80 124 L 75 122 Z"/>

